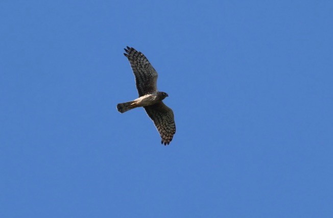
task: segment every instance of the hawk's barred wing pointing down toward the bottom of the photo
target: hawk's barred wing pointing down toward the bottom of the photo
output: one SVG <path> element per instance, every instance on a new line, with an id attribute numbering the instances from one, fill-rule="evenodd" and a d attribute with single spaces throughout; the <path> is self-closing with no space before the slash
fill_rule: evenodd
<path id="1" fill-rule="evenodd" d="M 176 133 L 174 112 L 163 102 L 144 107 L 161 135 L 161 143 L 169 144 Z"/>

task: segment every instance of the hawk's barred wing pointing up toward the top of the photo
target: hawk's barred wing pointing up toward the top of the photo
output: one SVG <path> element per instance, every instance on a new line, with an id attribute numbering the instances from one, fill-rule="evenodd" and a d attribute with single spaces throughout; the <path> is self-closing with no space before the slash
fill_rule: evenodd
<path id="1" fill-rule="evenodd" d="M 139 97 L 157 92 L 157 72 L 141 52 L 127 46 L 124 55 L 130 61 Z"/>

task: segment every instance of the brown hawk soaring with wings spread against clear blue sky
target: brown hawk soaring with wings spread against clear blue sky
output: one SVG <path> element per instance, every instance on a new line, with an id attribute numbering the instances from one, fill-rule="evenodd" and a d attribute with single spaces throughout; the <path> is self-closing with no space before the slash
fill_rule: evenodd
<path id="1" fill-rule="evenodd" d="M 144 107 L 161 136 L 161 143 L 166 146 L 176 133 L 174 113 L 162 102 L 169 95 L 157 90 L 157 72 L 144 54 L 129 46 L 125 52 L 135 76 L 139 98 L 117 104 L 117 110 L 124 113 L 133 108 Z"/>

